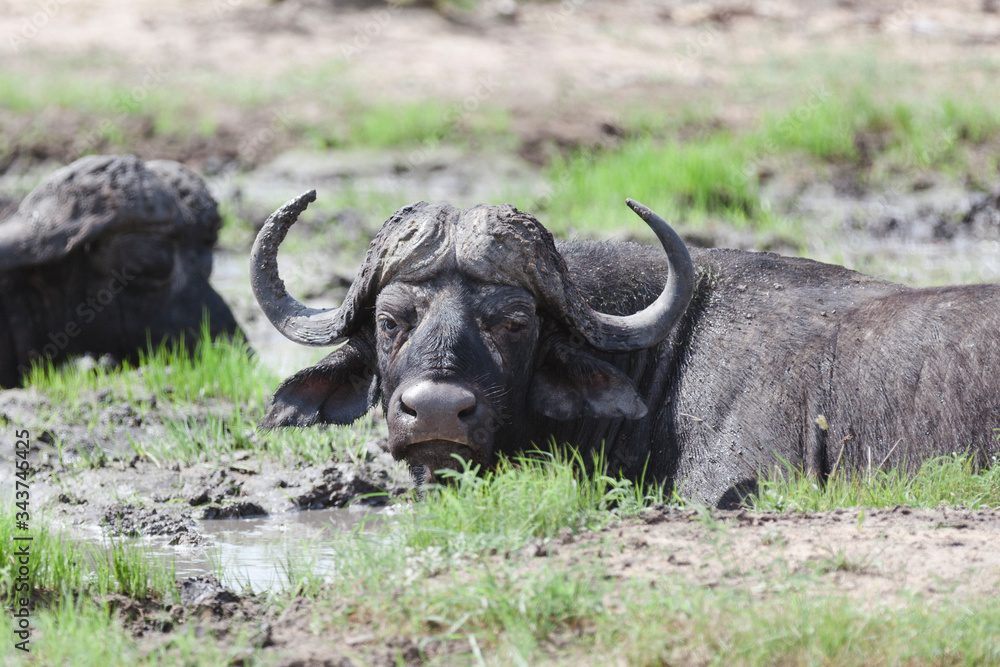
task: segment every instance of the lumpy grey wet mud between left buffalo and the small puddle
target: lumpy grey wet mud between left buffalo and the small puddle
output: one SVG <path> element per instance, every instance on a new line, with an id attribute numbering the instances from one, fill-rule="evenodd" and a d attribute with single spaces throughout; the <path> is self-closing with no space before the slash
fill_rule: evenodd
<path id="1" fill-rule="evenodd" d="M 95 396 L 88 414 L 66 416 L 34 389 L 0 392 L 0 422 L 30 434 L 32 502 L 65 526 L 204 546 L 210 540 L 199 531 L 201 521 L 378 507 L 412 488 L 408 472 L 377 436 L 349 462 L 279 458 L 249 448 L 191 462 L 141 453 L 138 443 L 168 437 L 168 421 L 178 413 L 193 423 L 232 409 L 223 401 L 178 407 L 158 406 L 151 397 Z M 252 444 L 255 433 L 243 437 Z M 12 447 L 5 441 L 0 456 L 11 460 Z M 5 475 L 2 486 L 11 484 Z"/>

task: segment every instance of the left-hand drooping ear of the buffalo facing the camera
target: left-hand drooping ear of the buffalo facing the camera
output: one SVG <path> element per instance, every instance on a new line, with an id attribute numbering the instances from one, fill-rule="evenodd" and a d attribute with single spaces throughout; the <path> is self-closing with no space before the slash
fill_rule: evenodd
<path id="1" fill-rule="evenodd" d="M 351 339 L 282 382 L 260 427 L 350 424 L 375 405 L 378 392 L 371 347 Z"/>

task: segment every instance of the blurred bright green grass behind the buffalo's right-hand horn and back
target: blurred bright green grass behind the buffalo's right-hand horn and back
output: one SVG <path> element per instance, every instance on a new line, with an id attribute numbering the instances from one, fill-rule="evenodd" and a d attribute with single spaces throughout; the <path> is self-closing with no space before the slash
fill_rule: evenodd
<path id="1" fill-rule="evenodd" d="M 684 140 L 676 123 L 657 126 L 651 118 L 631 121 L 630 138 L 616 149 L 556 160 L 547 190 L 522 206 L 544 212 L 560 234 L 644 235 L 622 223 L 627 196 L 682 225 L 717 220 L 794 242 L 805 229 L 772 214 L 761 199 L 764 165 L 795 159 L 820 170 L 848 166 L 876 185 L 926 169 L 980 182 L 972 153 L 1000 144 L 1000 107 L 975 97 L 885 100 L 863 89 L 837 91 L 765 113 L 741 130 L 703 119 L 706 129 Z"/>

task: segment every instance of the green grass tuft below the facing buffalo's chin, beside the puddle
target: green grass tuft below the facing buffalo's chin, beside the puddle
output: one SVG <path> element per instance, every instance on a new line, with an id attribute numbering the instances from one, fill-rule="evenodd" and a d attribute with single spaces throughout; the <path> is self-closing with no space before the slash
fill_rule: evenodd
<path id="1" fill-rule="evenodd" d="M 405 506 L 377 540 L 362 523 L 335 549 L 334 569 L 347 586 L 380 585 L 384 572 L 459 562 L 484 552 L 516 549 L 562 530 L 578 533 L 614 516 L 662 502 L 656 489 L 590 474 L 578 455 L 536 453 L 502 460 L 494 470 L 465 467 L 445 473 L 450 483 L 429 488 L 422 502 Z M 349 575 L 349 576 L 348 576 Z"/>

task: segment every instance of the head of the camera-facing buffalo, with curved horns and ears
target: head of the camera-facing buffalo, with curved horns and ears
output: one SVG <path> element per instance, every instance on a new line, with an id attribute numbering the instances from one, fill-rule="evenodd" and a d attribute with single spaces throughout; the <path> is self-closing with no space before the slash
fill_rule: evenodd
<path id="1" fill-rule="evenodd" d="M 251 255 L 251 283 L 285 336 L 343 345 L 278 388 L 263 427 L 347 424 L 381 399 L 389 450 L 426 480 L 454 467 L 455 454 L 488 464 L 498 443 L 528 445 L 529 413 L 645 415 L 632 382 L 598 356 L 655 345 L 691 299 L 687 250 L 649 209 L 628 202 L 663 244 L 669 278 L 632 315 L 592 309 L 532 216 L 507 204 L 460 210 L 423 202 L 386 221 L 344 303 L 317 310 L 288 294 L 276 263 L 289 227 L 314 199 L 303 194 L 268 219 Z"/>

